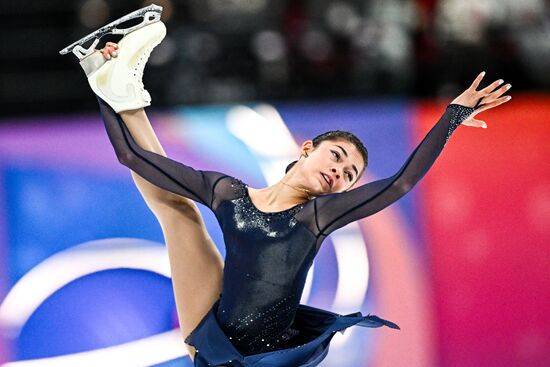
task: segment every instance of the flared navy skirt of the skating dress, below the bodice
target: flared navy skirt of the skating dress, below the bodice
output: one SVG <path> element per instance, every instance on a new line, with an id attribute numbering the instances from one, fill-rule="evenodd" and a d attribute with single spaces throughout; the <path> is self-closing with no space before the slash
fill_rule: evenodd
<path id="1" fill-rule="evenodd" d="M 396 324 L 375 315 L 363 316 L 361 312 L 339 315 L 300 304 L 291 326 L 300 333 L 292 339 L 292 347 L 243 356 L 231 344 L 218 323 L 216 311 L 219 301 L 185 339 L 187 344 L 196 349 L 195 367 L 313 367 L 325 359 L 330 341 L 337 331 L 343 333 L 353 325 L 399 329 Z"/>

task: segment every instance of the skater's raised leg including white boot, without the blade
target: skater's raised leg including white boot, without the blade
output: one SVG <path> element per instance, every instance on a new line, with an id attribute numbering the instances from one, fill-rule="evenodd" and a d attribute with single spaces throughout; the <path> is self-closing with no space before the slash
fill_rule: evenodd
<path id="1" fill-rule="evenodd" d="M 143 110 L 151 99 L 141 78 L 150 52 L 164 35 L 164 24 L 154 22 L 126 35 L 116 48 L 116 57 L 108 60 L 95 51 L 81 61 L 94 92 L 114 110 L 103 113 L 105 123 L 117 119 L 118 112 L 137 144 L 162 156 L 166 153 Z M 163 190 L 135 172 L 132 177 L 163 230 L 185 338 L 219 298 L 222 257 L 191 200 Z M 194 348 L 187 348 L 193 358 Z"/>

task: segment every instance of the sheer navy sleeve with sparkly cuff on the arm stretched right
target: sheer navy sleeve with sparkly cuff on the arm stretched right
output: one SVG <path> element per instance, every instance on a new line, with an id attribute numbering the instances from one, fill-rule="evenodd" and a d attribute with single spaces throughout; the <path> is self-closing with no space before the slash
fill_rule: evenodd
<path id="1" fill-rule="evenodd" d="M 362 185 L 356 189 L 315 199 L 314 226 L 319 235 L 361 218 L 368 217 L 397 201 L 428 172 L 453 131 L 474 111 L 451 104 L 436 125 L 393 176 Z"/>

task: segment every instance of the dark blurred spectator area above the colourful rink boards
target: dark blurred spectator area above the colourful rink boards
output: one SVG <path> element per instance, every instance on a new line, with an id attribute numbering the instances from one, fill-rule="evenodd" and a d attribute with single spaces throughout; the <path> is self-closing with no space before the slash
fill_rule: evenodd
<path id="1" fill-rule="evenodd" d="M 482 70 L 550 90 L 546 0 L 2 0 L 0 116 L 95 110 L 59 50 L 150 3 L 168 28 L 144 77 L 156 107 L 450 98 Z"/>

